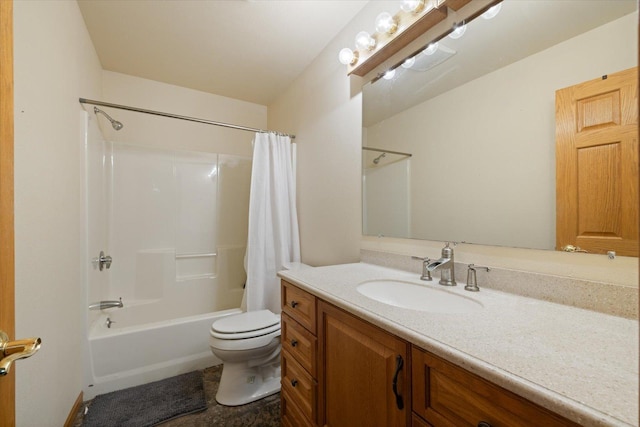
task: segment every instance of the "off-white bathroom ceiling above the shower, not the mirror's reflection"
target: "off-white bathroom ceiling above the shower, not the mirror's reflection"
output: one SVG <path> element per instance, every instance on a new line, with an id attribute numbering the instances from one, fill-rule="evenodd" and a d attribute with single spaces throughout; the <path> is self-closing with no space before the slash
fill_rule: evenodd
<path id="1" fill-rule="evenodd" d="M 366 3 L 78 0 L 103 69 L 261 105 L 285 90 Z"/>

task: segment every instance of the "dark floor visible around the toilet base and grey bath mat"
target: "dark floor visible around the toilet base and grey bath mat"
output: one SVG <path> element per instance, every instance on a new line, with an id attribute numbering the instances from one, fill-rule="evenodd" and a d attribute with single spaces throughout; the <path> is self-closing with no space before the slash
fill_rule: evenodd
<path id="1" fill-rule="evenodd" d="M 218 405 L 215 396 L 220 383 L 222 365 L 204 371 L 204 393 L 207 410 L 185 415 L 162 424 L 162 427 L 271 427 L 280 426 L 280 393 L 242 406 Z M 85 402 L 91 406 L 91 401 Z M 76 415 L 74 427 L 82 426 L 83 410 Z"/>

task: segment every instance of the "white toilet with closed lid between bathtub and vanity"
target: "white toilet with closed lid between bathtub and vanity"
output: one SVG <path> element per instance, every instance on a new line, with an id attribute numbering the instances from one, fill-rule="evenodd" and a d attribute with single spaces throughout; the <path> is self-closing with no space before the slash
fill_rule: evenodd
<path id="1" fill-rule="evenodd" d="M 209 346 L 223 362 L 219 404 L 244 405 L 280 391 L 280 315 L 259 310 L 217 320 Z"/>

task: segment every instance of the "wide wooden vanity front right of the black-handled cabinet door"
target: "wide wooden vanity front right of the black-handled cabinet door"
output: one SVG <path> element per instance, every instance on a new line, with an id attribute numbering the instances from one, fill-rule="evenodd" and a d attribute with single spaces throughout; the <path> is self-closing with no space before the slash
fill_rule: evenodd
<path id="1" fill-rule="evenodd" d="M 412 348 L 413 411 L 437 426 L 578 426 L 524 398 Z"/>

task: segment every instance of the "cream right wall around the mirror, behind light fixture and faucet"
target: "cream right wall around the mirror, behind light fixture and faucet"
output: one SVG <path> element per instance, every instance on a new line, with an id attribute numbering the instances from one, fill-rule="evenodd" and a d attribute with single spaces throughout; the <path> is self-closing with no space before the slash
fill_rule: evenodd
<path id="1" fill-rule="evenodd" d="M 298 135 L 298 204 L 302 260 L 347 263 L 371 249 L 434 257 L 441 242 L 361 236 L 361 81 L 337 53 L 370 28 L 384 2 L 370 2 L 291 87 L 269 105 L 269 127 Z M 391 9 L 391 8 L 390 8 Z M 457 260 L 638 286 L 637 258 L 460 245 Z"/>

